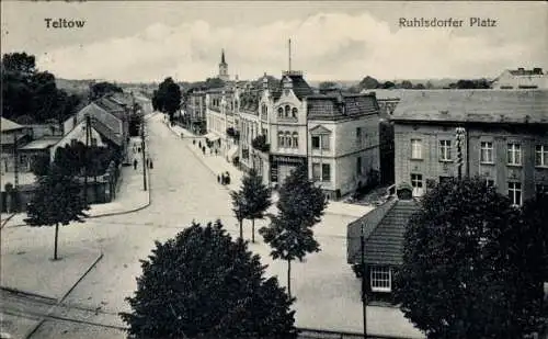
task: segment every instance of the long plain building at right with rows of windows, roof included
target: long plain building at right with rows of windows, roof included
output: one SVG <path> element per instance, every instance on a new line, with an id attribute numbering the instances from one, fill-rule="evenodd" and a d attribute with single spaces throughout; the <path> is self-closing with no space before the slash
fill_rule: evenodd
<path id="1" fill-rule="evenodd" d="M 458 173 L 480 176 L 516 205 L 548 188 L 548 91 L 416 91 L 398 104 L 396 185 L 413 195 Z"/>

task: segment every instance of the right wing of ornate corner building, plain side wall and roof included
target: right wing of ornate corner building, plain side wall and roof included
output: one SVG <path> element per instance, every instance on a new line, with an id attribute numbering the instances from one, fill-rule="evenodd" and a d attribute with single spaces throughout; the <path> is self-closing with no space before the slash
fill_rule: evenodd
<path id="1" fill-rule="evenodd" d="M 375 182 L 379 172 L 379 108 L 373 94 L 307 98 L 308 168 L 332 199 Z"/>

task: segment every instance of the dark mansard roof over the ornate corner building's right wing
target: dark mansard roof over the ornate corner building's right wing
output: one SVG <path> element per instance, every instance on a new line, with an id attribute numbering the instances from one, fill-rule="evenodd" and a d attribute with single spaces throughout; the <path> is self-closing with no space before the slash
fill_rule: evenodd
<path id="1" fill-rule="evenodd" d="M 370 94 L 313 94 L 307 97 L 309 118 L 338 120 L 378 114 L 377 100 Z"/>

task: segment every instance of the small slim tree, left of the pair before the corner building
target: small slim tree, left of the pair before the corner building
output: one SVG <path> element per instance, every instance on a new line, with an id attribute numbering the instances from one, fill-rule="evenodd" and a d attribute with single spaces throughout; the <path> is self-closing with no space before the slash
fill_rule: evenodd
<path id="1" fill-rule="evenodd" d="M 263 183 L 256 170 L 251 169 L 242 178 L 240 193 L 246 202 L 246 218 L 251 219 L 251 242 L 255 242 L 255 219 L 263 218 L 264 212 L 272 205 L 271 191 Z"/>

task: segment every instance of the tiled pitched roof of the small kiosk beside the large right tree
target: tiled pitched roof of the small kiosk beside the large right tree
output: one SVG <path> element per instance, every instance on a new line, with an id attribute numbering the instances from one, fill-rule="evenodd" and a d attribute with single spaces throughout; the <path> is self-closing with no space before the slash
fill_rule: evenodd
<path id="1" fill-rule="evenodd" d="M 414 200 L 392 199 L 349 224 L 349 263 L 359 262 L 361 228 L 365 225 L 365 262 L 386 265 L 401 264 L 406 226 L 418 208 L 419 204 Z"/>

